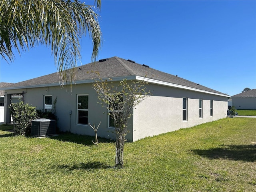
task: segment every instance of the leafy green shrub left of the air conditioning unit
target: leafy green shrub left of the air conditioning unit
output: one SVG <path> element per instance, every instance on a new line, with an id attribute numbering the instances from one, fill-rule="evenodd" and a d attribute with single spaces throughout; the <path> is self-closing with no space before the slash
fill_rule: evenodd
<path id="1" fill-rule="evenodd" d="M 36 107 L 24 104 L 24 102 L 12 103 L 9 106 L 12 115 L 14 131 L 19 135 L 25 135 L 31 129 L 31 121 L 37 118 Z"/>

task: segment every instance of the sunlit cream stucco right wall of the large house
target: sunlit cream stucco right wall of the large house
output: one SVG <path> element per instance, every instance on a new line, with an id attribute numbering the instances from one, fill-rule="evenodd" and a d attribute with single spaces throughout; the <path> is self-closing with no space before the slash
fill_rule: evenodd
<path id="1" fill-rule="evenodd" d="M 226 117 L 226 97 L 156 85 L 150 85 L 148 89 L 153 95 L 134 109 L 134 141 Z M 187 98 L 186 121 L 182 118 L 183 98 Z M 199 99 L 202 99 L 202 118 L 199 117 Z M 210 100 L 213 101 L 212 116 Z"/>

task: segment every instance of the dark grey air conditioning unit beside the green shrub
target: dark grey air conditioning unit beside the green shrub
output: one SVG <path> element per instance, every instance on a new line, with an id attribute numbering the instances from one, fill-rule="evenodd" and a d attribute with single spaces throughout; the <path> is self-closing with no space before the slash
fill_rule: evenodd
<path id="1" fill-rule="evenodd" d="M 36 119 L 31 123 L 31 135 L 37 137 L 55 135 L 55 120 Z"/>

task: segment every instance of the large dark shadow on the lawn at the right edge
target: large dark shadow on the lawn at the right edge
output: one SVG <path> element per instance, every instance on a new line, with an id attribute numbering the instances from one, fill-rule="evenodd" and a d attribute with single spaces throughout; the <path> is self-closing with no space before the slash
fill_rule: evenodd
<path id="1" fill-rule="evenodd" d="M 229 159 L 235 161 L 256 161 L 256 145 L 226 145 L 208 150 L 195 149 L 195 154 L 210 159 Z"/>

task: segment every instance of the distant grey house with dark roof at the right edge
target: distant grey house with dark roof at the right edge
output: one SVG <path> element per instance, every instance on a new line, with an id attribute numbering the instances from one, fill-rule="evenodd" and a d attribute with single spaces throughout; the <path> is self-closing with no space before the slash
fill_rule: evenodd
<path id="1" fill-rule="evenodd" d="M 256 110 L 256 89 L 231 96 L 232 106 L 236 109 Z"/>

